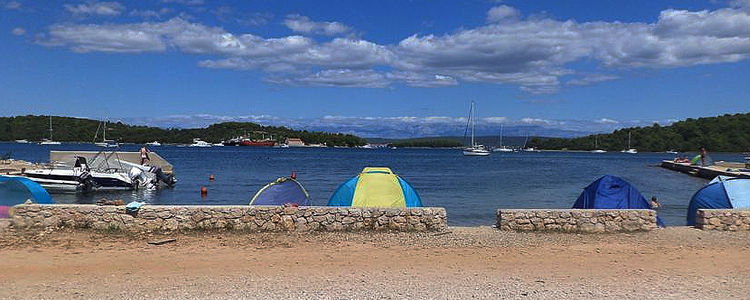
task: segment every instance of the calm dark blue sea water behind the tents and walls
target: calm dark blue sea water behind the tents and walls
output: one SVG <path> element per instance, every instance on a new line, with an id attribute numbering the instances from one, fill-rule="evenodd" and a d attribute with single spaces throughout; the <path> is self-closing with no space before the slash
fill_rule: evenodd
<path id="1" fill-rule="evenodd" d="M 52 148 L 51 148 L 52 147 Z M 98 150 L 92 145 L 60 146 L 0 143 L 0 155 L 34 162 L 49 160 L 49 150 Z M 123 151 L 137 151 L 125 145 Z M 97 199 L 152 204 L 247 204 L 266 183 L 292 171 L 315 205 L 325 205 L 336 187 L 365 166 L 388 166 L 409 181 L 426 206 L 442 206 L 451 225 L 490 225 L 497 208 L 568 208 L 598 177 L 621 176 L 644 196 L 663 204 L 659 215 L 668 225 L 684 225 L 692 194 L 706 180 L 657 167 L 674 156 L 660 153 L 493 153 L 464 157 L 448 149 L 326 149 L 153 147 L 174 165 L 174 189 L 154 192 L 53 195 L 58 203 L 93 203 Z M 741 161 L 740 154 L 713 154 L 714 160 Z M 210 182 L 209 175 L 216 180 Z M 208 188 L 202 198 L 201 186 Z"/>

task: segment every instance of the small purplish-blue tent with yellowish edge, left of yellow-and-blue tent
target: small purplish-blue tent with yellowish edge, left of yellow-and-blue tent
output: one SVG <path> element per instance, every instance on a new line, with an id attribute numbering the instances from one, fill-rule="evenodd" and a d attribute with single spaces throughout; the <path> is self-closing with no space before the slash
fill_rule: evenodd
<path id="1" fill-rule="evenodd" d="M 294 178 L 280 177 L 258 190 L 250 205 L 310 205 L 310 195 Z"/>

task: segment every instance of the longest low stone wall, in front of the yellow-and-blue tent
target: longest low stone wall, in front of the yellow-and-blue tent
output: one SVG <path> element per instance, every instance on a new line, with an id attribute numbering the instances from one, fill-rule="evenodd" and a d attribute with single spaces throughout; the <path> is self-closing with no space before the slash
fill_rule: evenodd
<path id="1" fill-rule="evenodd" d="M 440 231 L 444 208 L 350 208 L 277 206 L 144 205 L 135 214 L 123 206 L 22 204 L 11 209 L 15 228 L 91 228 L 124 232 L 190 230 Z"/>

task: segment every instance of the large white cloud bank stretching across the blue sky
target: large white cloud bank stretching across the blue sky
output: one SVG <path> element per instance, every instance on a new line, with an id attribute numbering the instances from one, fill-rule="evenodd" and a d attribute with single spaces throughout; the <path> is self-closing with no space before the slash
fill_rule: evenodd
<path id="1" fill-rule="evenodd" d="M 446 87 L 479 82 L 550 94 L 563 86 L 614 80 L 621 69 L 745 60 L 750 57 L 750 12 L 745 7 L 667 9 L 653 23 L 626 23 L 523 18 L 512 7 L 501 5 L 488 11 L 492 23 L 443 35 L 414 34 L 395 44 L 357 37 L 266 38 L 181 17 L 163 22 L 55 24 L 39 42 L 78 52 L 201 54 L 205 56 L 198 62 L 201 67 L 257 70 L 269 82 L 280 84 Z M 351 32 L 337 22 L 314 22 L 299 15 L 287 16 L 285 25 L 306 34 Z M 583 60 L 599 64 L 608 74 L 579 69 L 575 63 Z"/>

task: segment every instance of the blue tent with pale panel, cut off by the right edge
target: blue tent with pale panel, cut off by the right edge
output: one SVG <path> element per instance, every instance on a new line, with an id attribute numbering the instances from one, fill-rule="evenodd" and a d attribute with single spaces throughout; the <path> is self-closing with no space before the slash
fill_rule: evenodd
<path id="1" fill-rule="evenodd" d="M 750 179 L 718 176 L 698 190 L 688 205 L 689 226 L 695 225 L 701 208 L 750 208 Z"/>

